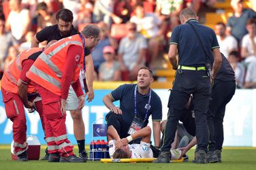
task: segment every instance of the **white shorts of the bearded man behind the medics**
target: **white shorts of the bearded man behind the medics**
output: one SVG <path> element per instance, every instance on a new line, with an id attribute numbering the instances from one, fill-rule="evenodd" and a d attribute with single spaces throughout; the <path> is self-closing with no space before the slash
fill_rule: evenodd
<path id="1" fill-rule="evenodd" d="M 78 109 L 78 97 L 76 96 L 76 92 L 74 91 L 72 86 L 69 87 L 69 95 L 67 96 L 65 109 L 66 110 Z"/>

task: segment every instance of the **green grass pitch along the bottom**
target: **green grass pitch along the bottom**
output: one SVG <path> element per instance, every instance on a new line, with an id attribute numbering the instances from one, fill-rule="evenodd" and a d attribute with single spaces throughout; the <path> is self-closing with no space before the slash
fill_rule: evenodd
<path id="1" fill-rule="evenodd" d="M 40 158 L 44 156 L 44 149 L 41 147 Z M 75 152 L 78 150 L 75 148 Z M 11 159 L 10 146 L 0 146 L 0 169 L 28 169 L 28 170 L 55 170 L 55 169 L 182 169 L 182 170 L 255 170 L 256 169 L 256 148 L 224 148 L 222 152 L 223 163 L 214 163 L 207 165 L 197 165 L 191 163 L 194 150 L 189 151 L 189 163 L 100 163 L 99 161 L 87 161 L 87 163 L 48 163 L 42 160 L 31 160 L 20 163 Z"/>

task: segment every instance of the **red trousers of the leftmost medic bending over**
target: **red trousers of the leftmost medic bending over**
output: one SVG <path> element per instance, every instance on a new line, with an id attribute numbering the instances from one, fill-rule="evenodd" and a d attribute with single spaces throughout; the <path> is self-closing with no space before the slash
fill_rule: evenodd
<path id="1" fill-rule="evenodd" d="M 18 94 L 7 92 L 1 88 L 5 113 L 13 122 L 14 154 L 19 155 L 27 150 L 27 124 L 22 100 Z"/>

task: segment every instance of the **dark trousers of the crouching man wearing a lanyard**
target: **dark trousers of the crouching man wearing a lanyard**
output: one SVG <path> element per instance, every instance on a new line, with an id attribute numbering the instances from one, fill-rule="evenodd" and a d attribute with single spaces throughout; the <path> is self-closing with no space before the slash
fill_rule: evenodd
<path id="1" fill-rule="evenodd" d="M 127 132 L 131 123 L 128 125 L 126 122 L 124 122 L 121 114 L 114 114 L 114 112 L 109 112 L 106 115 L 106 121 L 107 126 L 114 126 L 114 129 L 116 129 L 121 139 L 129 136 Z M 140 143 L 141 140 L 142 138 L 138 138 L 131 141 L 129 144 Z"/>

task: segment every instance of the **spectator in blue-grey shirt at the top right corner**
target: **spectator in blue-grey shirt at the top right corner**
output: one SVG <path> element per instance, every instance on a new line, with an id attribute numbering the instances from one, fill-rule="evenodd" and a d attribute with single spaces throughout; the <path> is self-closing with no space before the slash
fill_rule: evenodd
<path id="1" fill-rule="evenodd" d="M 242 0 L 231 0 L 230 4 L 234 14 L 227 20 L 227 34 L 233 35 L 240 43 L 242 37 L 248 33 L 245 28 L 247 20 L 256 17 L 256 13 L 251 9 L 244 8 Z"/>

